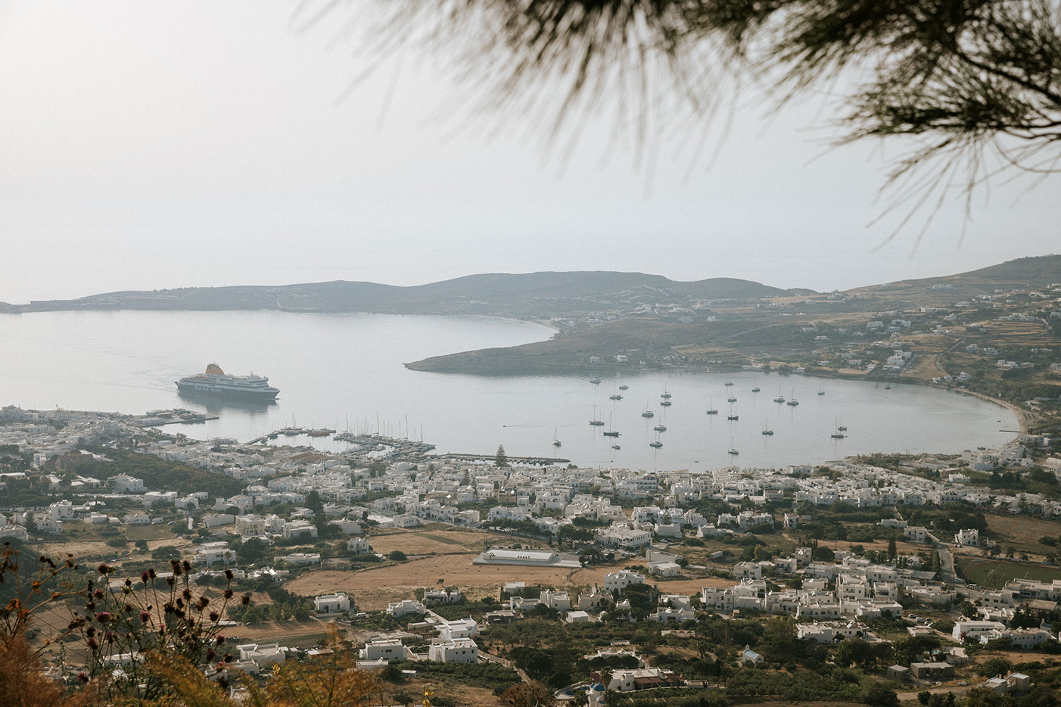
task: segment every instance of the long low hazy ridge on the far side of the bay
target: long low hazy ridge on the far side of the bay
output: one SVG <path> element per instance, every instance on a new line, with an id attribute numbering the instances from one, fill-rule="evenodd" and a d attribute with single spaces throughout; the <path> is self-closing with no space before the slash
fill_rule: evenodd
<path id="1" fill-rule="evenodd" d="M 337 280 L 278 286 L 117 291 L 75 300 L 7 305 L 6 310 L 282 310 L 541 317 L 608 310 L 621 302 L 673 300 L 680 305 L 691 300 L 758 299 L 792 294 L 795 293 L 734 278 L 678 282 L 642 272 L 494 272 L 405 287 Z"/>

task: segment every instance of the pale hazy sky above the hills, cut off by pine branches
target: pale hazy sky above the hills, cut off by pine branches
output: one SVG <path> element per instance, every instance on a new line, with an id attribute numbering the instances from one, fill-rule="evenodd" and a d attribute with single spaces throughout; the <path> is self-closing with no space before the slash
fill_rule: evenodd
<path id="1" fill-rule="evenodd" d="M 997 182 L 960 245 L 955 198 L 912 255 L 922 220 L 872 252 L 902 144 L 825 149 L 822 94 L 746 90 L 717 159 L 668 127 L 649 176 L 608 108 L 566 157 L 518 114 L 463 125 L 413 51 L 341 100 L 373 57 L 336 41 L 349 11 L 298 32 L 294 6 L 0 0 L 0 300 L 543 269 L 831 289 L 1056 249 L 1061 177 Z"/>

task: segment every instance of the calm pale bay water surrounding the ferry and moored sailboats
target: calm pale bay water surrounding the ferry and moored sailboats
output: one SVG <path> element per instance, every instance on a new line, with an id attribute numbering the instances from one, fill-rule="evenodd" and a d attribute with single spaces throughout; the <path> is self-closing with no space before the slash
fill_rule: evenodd
<path id="1" fill-rule="evenodd" d="M 189 437 L 246 441 L 295 424 L 412 437 L 437 452 L 571 459 L 579 465 L 702 470 L 817 463 L 871 452 L 954 453 L 1013 437 L 1014 416 L 973 396 L 921 386 L 779 374 L 631 371 L 622 377 L 453 375 L 410 371 L 425 356 L 547 338 L 537 324 L 490 318 L 278 312 L 59 312 L 0 315 L 0 405 L 142 413 L 216 412 Z M 205 404 L 174 382 L 216 363 L 269 376 L 267 406 Z M 727 381 L 732 387 L 726 387 Z M 618 391 L 621 384 L 628 390 Z M 762 389 L 751 392 L 755 385 Z M 817 392 L 824 391 L 823 395 Z M 661 393 L 672 394 L 668 408 Z M 613 402 L 609 395 L 623 394 Z M 800 405 L 773 403 L 795 395 Z M 737 422 L 728 422 L 729 395 Z M 708 407 L 718 409 L 708 416 Z M 644 410 L 655 417 L 645 419 Z M 589 425 L 599 419 L 603 427 Z M 657 434 L 653 427 L 665 424 Z M 838 424 L 848 437 L 833 440 Z M 608 426 L 621 432 L 604 437 Z M 761 434 L 764 426 L 773 436 Z M 555 436 L 555 437 L 554 437 Z M 663 446 L 649 442 L 659 438 Z M 309 444 L 306 437 L 295 439 Z M 553 446 L 559 439 L 562 447 Z M 328 439 L 321 448 L 343 448 Z M 621 448 L 611 448 L 618 443 Z M 728 453 L 731 447 L 740 455 Z"/>

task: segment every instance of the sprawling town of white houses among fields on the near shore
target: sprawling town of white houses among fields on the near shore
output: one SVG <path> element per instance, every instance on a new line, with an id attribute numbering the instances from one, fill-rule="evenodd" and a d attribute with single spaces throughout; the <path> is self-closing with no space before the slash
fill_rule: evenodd
<path id="1" fill-rule="evenodd" d="M 908 636 L 924 650 L 872 661 L 897 689 L 956 675 L 968 684 L 976 667 L 970 647 L 1061 647 L 1054 623 L 1061 571 L 1051 550 L 1059 538 L 1019 551 L 985 524 L 1026 517 L 1061 529 L 1050 520 L 1061 515 L 1061 459 L 1042 435 L 950 458 L 657 474 L 196 441 L 94 412 L 7 407 L 0 422 L 0 478 L 14 500 L 0 535 L 108 563 L 116 591 L 123 571 L 189 562 L 197 584 L 253 587 L 254 603 L 229 608 L 228 631 L 255 638 L 254 626 L 269 620 L 294 621 L 303 633 L 338 626 L 360 667 L 399 666 L 399 679 L 432 664 L 492 665 L 522 671 L 514 682 L 533 673 L 558 700 L 585 689 L 598 702 L 612 691 L 707 689 L 712 671 L 723 670 L 639 653 L 626 638 L 585 658 L 595 669 L 576 661 L 528 672 L 525 650 L 495 636 L 542 622 L 571 632 L 566 640 L 636 622 L 643 640 L 654 636 L 649 644 L 688 642 L 711 616 L 786 617 L 793 640 L 836 650 Z M 1030 478 L 1037 483 L 1020 492 L 992 485 Z M 477 551 L 466 543 L 466 553 L 453 555 L 464 564 L 449 565 L 467 584 L 434 584 L 424 569 L 418 586 L 395 582 L 388 590 L 389 571 L 431 560 L 414 556 L 412 538 L 421 535 L 476 538 Z M 378 551 L 381 544 L 396 549 Z M 989 585 L 960 576 L 989 561 L 1012 577 Z M 1046 568 L 1056 579 L 1036 579 L 1048 577 Z M 283 633 L 291 635 L 274 637 Z M 264 675 L 317 650 L 297 643 L 246 640 L 229 669 Z M 733 650 L 740 670 L 773 661 L 753 637 Z M 999 694 L 1032 689 L 1019 671 L 998 679 L 989 687 Z"/>

